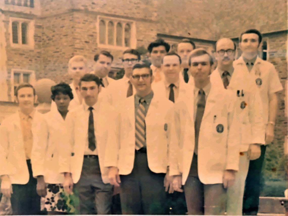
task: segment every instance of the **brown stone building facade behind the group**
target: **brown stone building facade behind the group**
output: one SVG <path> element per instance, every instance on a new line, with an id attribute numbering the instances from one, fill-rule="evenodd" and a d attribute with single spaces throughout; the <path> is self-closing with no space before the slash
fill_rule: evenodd
<path id="1" fill-rule="evenodd" d="M 19 82 L 69 82 L 72 56 L 85 56 L 92 70 L 94 54 L 104 49 L 115 57 L 117 71 L 125 49 L 145 49 L 159 37 L 171 45 L 190 38 L 213 52 L 220 37 L 232 38 L 238 47 L 240 33 L 256 28 L 266 41 L 259 55 L 265 52 L 274 64 L 283 87 L 287 79 L 287 0 L 1 0 L 0 18 L 0 121 L 14 106 Z M 284 91 L 279 98 L 278 159 L 287 134 Z"/>

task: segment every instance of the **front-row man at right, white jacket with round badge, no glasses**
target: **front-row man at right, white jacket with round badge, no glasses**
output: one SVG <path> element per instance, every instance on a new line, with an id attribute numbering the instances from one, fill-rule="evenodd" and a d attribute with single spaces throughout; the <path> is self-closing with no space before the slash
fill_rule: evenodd
<path id="1" fill-rule="evenodd" d="M 189 66 L 194 103 L 186 103 L 186 98 L 175 103 L 175 120 L 181 126 L 176 128 L 178 141 L 170 142 L 170 175 L 176 191 L 184 185 L 188 214 L 223 215 L 226 188 L 233 185 L 239 161 L 234 99 L 210 82 L 213 59 L 208 52 L 193 50 Z"/>

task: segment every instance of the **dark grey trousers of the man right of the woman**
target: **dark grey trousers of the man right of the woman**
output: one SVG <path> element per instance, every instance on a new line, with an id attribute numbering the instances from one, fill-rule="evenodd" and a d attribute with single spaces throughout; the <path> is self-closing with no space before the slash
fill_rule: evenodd
<path id="1" fill-rule="evenodd" d="M 84 157 L 81 176 L 74 187 L 79 196 L 77 210 L 81 215 L 111 214 L 113 187 L 102 181 L 98 156 Z"/>

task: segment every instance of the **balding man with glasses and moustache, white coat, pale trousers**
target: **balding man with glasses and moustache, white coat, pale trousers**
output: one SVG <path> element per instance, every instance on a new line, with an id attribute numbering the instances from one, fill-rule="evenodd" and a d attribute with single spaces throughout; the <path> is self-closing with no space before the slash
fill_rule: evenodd
<path id="1" fill-rule="evenodd" d="M 265 130 L 259 92 L 247 73 L 234 69 L 236 45 L 229 38 L 216 42 L 217 68 L 211 74 L 211 82 L 223 86 L 237 96 L 235 115 L 240 123 L 241 146 L 239 170 L 235 183 L 227 190 L 227 215 L 242 215 L 245 179 L 250 160 L 260 157 L 260 145 L 265 144 Z"/>

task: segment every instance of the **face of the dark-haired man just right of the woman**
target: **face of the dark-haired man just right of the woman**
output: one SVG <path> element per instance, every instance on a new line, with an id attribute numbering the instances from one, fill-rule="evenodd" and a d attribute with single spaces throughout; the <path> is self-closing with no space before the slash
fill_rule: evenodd
<path id="1" fill-rule="evenodd" d="M 100 87 L 100 86 L 99 86 Z M 99 88 L 94 81 L 82 81 L 80 86 L 81 96 L 88 106 L 93 106 L 98 99 Z"/>

